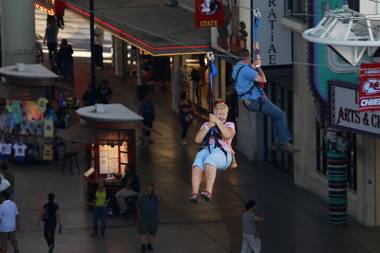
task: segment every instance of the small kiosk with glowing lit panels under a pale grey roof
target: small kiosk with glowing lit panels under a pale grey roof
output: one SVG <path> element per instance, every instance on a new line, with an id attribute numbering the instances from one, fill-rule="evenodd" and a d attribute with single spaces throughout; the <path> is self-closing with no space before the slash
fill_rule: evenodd
<path id="1" fill-rule="evenodd" d="M 86 147 L 88 168 L 83 175 L 88 205 L 99 179 L 105 180 L 107 193 L 113 196 L 122 187 L 125 166 L 136 167 L 136 129 L 142 118 L 121 104 L 82 107 L 76 112 L 80 123 L 62 137 Z"/>

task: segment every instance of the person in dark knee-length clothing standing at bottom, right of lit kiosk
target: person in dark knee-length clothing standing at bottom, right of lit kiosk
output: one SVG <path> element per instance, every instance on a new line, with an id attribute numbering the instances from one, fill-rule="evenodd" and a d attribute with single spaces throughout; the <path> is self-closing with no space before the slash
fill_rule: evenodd
<path id="1" fill-rule="evenodd" d="M 157 234 L 159 223 L 159 198 L 150 183 L 144 187 L 144 192 L 137 201 L 138 232 L 141 235 L 141 252 L 152 251 L 152 241 Z"/>

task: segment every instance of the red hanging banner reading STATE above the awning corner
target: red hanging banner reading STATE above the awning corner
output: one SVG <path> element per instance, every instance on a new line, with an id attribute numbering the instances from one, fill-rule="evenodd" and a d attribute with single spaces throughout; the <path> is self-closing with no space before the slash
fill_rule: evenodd
<path id="1" fill-rule="evenodd" d="M 220 0 L 195 0 L 195 26 L 197 28 L 223 25 L 223 5 Z"/>

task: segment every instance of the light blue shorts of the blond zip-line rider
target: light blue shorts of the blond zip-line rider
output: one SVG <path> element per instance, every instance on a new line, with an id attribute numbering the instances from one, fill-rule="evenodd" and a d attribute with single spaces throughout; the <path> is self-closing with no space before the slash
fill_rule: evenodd
<path id="1" fill-rule="evenodd" d="M 214 148 L 215 145 L 210 145 L 210 151 L 208 147 L 200 150 L 195 156 L 193 168 L 199 167 L 203 172 L 206 164 L 216 167 L 218 170 L 226 170 L 232 161 L 232 156 L 229 152 L 224 152 L 220 148 Z M 226 155 L 227 154 L 227 155 Z"/>

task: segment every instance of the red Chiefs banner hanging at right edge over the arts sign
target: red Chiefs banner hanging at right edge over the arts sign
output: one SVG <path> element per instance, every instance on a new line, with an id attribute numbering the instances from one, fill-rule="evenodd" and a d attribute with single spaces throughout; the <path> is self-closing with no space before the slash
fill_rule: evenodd
<path id="1" fill-rule="evenodd" d="M 359 110 L 380 111 L 380 64 L 360 66 Z"/>

